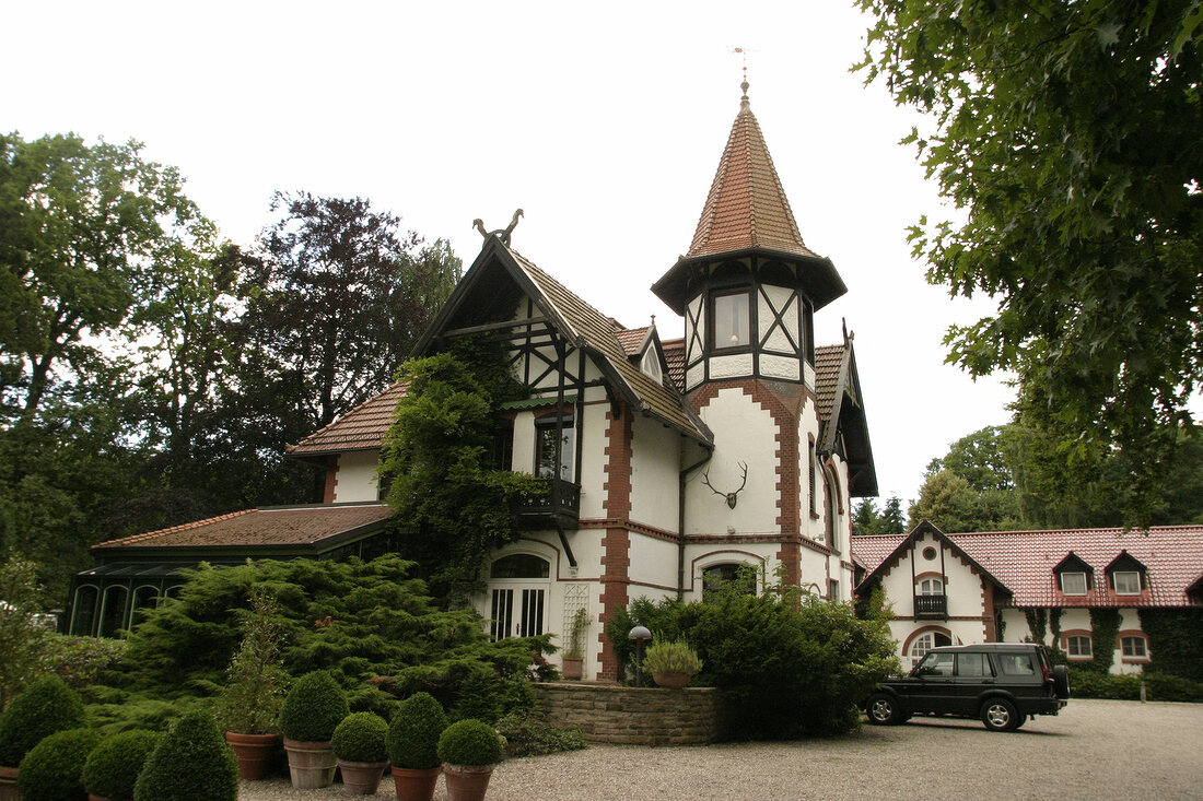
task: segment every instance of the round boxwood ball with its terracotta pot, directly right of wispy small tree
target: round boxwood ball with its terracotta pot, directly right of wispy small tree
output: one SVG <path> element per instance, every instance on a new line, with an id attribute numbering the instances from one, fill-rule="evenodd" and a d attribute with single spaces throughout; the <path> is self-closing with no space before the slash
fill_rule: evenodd
<path id="1" fill-rule="evenodd" d="M 348 713 L 343 690 L 328 671 L 315 670 L 292 682 L 280 710 L 292 787 L 313 790 L 334 782 L 338 763 L 330 740 Z"/>

